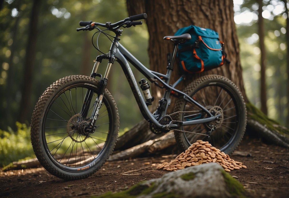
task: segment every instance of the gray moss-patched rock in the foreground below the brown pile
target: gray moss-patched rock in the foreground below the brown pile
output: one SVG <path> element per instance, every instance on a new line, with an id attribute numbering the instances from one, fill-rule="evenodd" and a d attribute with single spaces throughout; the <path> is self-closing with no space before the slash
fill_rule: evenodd
<path id="1" fill-rule="evenodd" d="M 230 194 L 231 192 L 228 192 L 226 186 L 228 182 L 225 182 L 225 180 L 228 180 L 228 175 L 226 179 L 224 178 L 225 174 L 228 173 L 225 173 L 221 165 L 217 163 L 187 167 L 185 169 L 169 172 L 162 178 L 149 180 L 139 184 L 138 189 L 146 189 L 146 192 L 140 193 L 141 195 L 138 194 L 139 196 L 137 197 L 150 198 L 155 197 L 156 195 L 158 195 L 158 197 L 190 198 L 235 197 Z M 231 176 L 229 175 L 229 177 Z M 243 186 L 241 187 L 243 189 Z"/>

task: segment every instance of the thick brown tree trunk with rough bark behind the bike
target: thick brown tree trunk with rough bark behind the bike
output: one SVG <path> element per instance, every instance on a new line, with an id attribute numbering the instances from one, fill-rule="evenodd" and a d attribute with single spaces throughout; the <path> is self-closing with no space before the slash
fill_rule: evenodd
<path id="1" fill-rule="evenodd" d="M 147 13 L 146 20 L 149 31 L 149 63 L 151 70 L 166 73 L 166 55 L 173 50 L 172 43 L 163 40 L 164 36 L 173 35 L 179 28 L 189 25 L 197 25 L 210 28 L 219 33 L 220 40 L 225 42 L 225 52 L 230 64 L 207 72 L 193 74 L 192 78 L 180 83 L 179 89 L 183 89 L 192 79 L 206 74 L 220 74 L 231 79 L 242 92 L 245 101 L 247 97 L 244 91 L 242 68 L 239 56 L 239 43 L 234 22 L 233 1 L 133 1 L 127 0 L 129 16 Z M 179 78 L 177 63 L 174 66 L 171 83 Z M 152 95 L 161 96 L 159 89 L 152 85 Z M 172 101 L 171 108 L 173 109 Z"/>

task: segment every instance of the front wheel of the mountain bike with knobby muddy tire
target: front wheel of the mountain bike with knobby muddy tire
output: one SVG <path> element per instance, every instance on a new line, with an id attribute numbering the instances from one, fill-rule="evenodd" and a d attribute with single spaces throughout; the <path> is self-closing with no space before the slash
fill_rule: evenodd
<path id="1" fill-rule="evenodd" d="M 87 116 L 81 115 L 86 93 L 92 92 Z M 116 143 L 119 117 L 107 89 L 95 130 L 84 130 L 99 97 L 99 81 L 88 76 L 67 76 L 46 89 L 35 106 L 31 141 L 36 157 L 51 174 L 65 179 L 87 178 L 110 156 Z"/>

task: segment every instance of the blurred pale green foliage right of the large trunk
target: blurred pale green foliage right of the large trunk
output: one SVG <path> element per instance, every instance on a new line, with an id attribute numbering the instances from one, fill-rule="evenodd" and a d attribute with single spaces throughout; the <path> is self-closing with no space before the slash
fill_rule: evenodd
<path id="1" fill-rule="evenodd" d="M 275 119 L 282 125 L 287 124 L 286 116 L 289 109 L 286 104 L 288 76 L 286 73 L 286 16 L 281 12 L 276 14 L 274 9 L 284 7 L 280 0 L 262 1 L 263 11 L 270 13 L 269 18 L 264 18 L 264 36 L 266 49 L 266 86 L 268 117 Z M 236 25 L 240 43 L 240 58 L 243 68 L 243 81 L 249 101 L 258 108 L 261 107 L 260 98 L 260 45 L 258 36 L 258 3 L 244 0 L 240 10 L 235 14 L 251 13 L 255 15 L 250 23 Z M 229 57 L 230 58 L 230 57 Z"/>

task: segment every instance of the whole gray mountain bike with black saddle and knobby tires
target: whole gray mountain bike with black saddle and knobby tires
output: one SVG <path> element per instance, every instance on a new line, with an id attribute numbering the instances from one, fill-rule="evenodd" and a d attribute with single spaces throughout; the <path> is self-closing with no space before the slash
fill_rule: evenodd
<path id="1" fill-rule="evenodd" d="M 238 146 L 247 118 L 243 97 L 234 83 L 223 76 L 206 75 L 180 91 L 175 87 L 183 81 L 184 74 L 169 84 L 178 45 L 190 39 L 190 34 L 164 37 L 174 46 L 166 74 L 149 70 L 121 45 L 123 30 L 120 28 L 142 25 L 142 21 L 136 20 L 146 18 L 147 14 L 139 14 L 116 23 L 80 21 L 83 27 L 77 31 L 97 29 L 96 33 L 103 33 L 109 39 L 111 35 L 105 30 L 115 35 L 110 39 L 108 53 L 96 47 L 102 54 L 96 57 L 90 76 L 59 79 L 46 89 L 35 106 L 31 120 L 32 146 L 41 165 L 51 174 L 64 180 L 87 178 L 100 169 L 112 153 L 119 116 L 106 85 L 114 61 L 121 65 L 140 112 L 153 133 L 173 130 L 177 144 L 184 150 L 198 139 L 209 141 L 228 154 Z M 102 75 L 97 70 L 104 60 L 108 64 Z M 153 113 L 148 108 L 154 100 L 149 82 L 140 79 L 139 87 L 128 62 L 156 87 L 165 90 Z M 176 97 L 177 101 L 173 113 L 167 114 L 171 97 Z"/>

